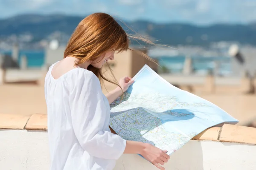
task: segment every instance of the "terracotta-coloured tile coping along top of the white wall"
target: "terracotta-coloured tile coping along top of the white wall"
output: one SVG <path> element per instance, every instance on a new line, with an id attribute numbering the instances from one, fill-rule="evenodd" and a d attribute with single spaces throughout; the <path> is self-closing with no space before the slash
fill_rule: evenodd
<path id="1" fill-rule="evenodd" d="M 38 113 L 32 116 L 0 114 L 0 129 L 47 130 L 47 115 Z M 210 127 L 192 140 L 256 144 L 256 128 L 224 124 L 222 127 Z"/>

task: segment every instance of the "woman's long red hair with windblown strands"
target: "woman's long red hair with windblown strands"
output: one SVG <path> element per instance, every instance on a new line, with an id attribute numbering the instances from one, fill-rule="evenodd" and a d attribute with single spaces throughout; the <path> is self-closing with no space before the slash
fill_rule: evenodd
<path id="1" fill-rule="evenodd" d="M 64 58 L 67 56 L 76 57 L 78 61 L 75 65 L 82 64 L 85 61 L 99 61 L 99 57 L 108 50 L 115 50 L 117 52 L 128 50 L 130 43 L 128 37 L 136 38 L 126 34 L 124 29 L 109 14 L 94 13 L 85 17 L 78 24 L 67 43 Z M 142 37 L 137 39 L 151 43 L 151 41 L 143 39 Z M 152 60 L 147 55 L 142 55 Z M 99 78 L 101 83 L 102 79 L 105 79 L 108 82 L 118 85 L 115 78 L 113 81 L 104 77 L 102 68 L 95 68 L 89 65 L 87 69 L 92 71 Z M 113 76 L 112 71 L 111 74 Z"/>

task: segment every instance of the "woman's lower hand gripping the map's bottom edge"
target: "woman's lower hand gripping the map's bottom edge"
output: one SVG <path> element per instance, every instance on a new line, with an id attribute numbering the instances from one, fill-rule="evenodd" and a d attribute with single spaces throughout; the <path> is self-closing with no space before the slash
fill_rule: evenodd
<path id="1" fill-rule="evenodd" d="M 159 164 L 163 165 L 170 159 L 170 156 L 167 154 L 167 150 L 161 150 L 158 147 L 148 143 L 144 144 L 144 149 L 141 151 L 140 155 L 142 155 L 160 170 L 165 170 L 165 168 Z"/>

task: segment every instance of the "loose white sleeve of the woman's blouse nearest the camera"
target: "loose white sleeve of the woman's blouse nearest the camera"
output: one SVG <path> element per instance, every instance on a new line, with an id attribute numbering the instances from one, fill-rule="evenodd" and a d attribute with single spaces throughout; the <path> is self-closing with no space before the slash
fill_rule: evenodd
<path id="1" fill-rule="evenodd" d="M 104 130 L 107 108 L 99 79 L 91 72 L 81 71 L 73 77 L 70 109 L 75 135 L 90 155 L 103 159 L 119 159 L 126 141 Z"/>

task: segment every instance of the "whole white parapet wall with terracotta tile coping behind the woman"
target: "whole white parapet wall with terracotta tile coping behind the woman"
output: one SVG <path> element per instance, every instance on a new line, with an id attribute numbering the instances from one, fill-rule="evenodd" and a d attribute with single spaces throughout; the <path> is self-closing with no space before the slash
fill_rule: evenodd
<path id="1" fill-rule="evenodd" d="M 0 169 L 49 170 L 47 115 L 0 114 Z M 256 128 L 211 127 L 171 155 L 166 170 L 255 170 Z M 157 170 L 135 154 L 124 154 L 114 170 Z"/>

